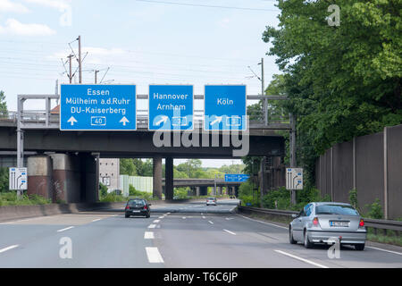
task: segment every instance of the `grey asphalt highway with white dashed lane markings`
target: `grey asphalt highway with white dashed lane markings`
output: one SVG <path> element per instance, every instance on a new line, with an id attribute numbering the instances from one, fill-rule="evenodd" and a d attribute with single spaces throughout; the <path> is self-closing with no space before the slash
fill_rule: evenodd
<path id="1" fill-rule="evenodd" d="M 398 249 L 345 247 L 331 259 L 326 246 L 290 245 L 287 228 L 234 214 L 237 204 L 152 206 L 148 219 L 115 209 L 0 223 L 0 267 L 402 267 Z M 62 258 L 65 241 L 71 258 Z"/>

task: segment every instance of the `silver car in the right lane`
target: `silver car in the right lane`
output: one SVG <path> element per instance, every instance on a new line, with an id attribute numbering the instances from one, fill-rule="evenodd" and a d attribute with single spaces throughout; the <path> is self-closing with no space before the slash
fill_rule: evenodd
<path id="1" fill-rule="evenodd" d="M 310 203 L 289 224 L 289 242 L 303 242 L 306 248 L 314 243 L 355 246 L 364 250 L 367 231 L 364 220 L 353 206 L 344 203 Z"/>

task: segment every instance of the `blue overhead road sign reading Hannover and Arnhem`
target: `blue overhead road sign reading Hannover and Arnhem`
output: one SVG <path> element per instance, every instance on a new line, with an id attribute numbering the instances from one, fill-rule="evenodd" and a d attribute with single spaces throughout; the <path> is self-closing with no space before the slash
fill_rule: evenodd
<path id="1" fill-rule="evenodd" d="M 193 130 L 193 114 L 193 86 L 149 86 L 149 130 Z"/>

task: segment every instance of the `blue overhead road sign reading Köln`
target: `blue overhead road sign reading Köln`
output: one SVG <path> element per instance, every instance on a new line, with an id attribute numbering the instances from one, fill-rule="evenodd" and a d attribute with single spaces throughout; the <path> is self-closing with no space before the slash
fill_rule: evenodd
<path id="1" fill-rule="evenodd" d="M 205 86 L 204 129 L 247 130 L 244 85 Z"/>

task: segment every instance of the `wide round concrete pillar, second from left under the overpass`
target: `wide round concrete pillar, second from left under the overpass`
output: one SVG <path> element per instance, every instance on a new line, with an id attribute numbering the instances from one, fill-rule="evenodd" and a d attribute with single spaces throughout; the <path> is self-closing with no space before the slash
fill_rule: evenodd
<path id="1" fill-rule="evenodd" d="M 80 202 L 80 160 L 66 154 L 50 155 L 53 161 L 53 200 Z"/>

